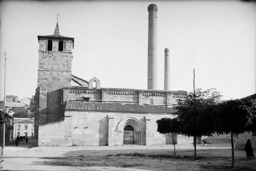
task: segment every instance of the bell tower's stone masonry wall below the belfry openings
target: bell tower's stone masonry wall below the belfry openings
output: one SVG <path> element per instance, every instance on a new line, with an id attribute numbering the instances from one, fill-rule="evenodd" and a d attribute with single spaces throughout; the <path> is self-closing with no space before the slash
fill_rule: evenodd
<path id="1" fill-rule="evenodd" d="M 60 119 L 60 88 L 70 86 L 71 52 L 40 51 L 37 86 L 47 87 L 46 122 L 51 123 Z M 39 118 L 40 124 L 40 118 Z"/>

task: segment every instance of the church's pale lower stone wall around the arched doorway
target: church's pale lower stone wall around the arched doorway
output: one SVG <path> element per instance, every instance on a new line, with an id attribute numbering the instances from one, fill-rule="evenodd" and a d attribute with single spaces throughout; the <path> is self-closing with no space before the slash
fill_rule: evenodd
<path id="1" fill-rule="evenodd" d="M 141 145 L 173 144 L 171 135 L 157 132 L 158 119 L 172 115 L 112 113 L 92 111 L 65 111 L 65 120 L 39 126 L 38 146 L 72 145 L 122 145 L 123 127 L 130 120 L 140 123 L 140 130 L 135 128 L 135 142 Z M 131 124 L 132 125 L 132 124 Z M 125 126 L 125 125 L 123 125 Z M 133 125 L 134 127 L 134 125 Z M 193 138 L 178 135 L 178 144 L 193 143 Z M 201 139 L 197 139 L 201 143 Z"/>

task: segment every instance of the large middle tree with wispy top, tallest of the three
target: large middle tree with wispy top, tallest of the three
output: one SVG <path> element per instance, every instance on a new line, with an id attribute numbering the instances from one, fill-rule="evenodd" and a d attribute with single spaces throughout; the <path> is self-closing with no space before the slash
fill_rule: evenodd
<path id="1" fill-rule="evenodd" d="M 196 159 L 196 137 L 212 136 L 215 133 L 214 116 L 210 112 L 217 102 L 216 97 L 211 97 L 212 89 L 202 91 L 196 89 L 187 94 L 180 105 L 175 106 L 177 120 L 181 125 L 180 133 L 185 136 L 194 137 L 194 158 Z"/>

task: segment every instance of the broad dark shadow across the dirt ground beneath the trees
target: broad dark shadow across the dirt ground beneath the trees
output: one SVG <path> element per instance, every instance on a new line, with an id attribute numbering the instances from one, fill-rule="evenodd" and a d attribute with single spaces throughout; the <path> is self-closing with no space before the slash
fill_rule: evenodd
<path id="1" fill-rule="evenodd" d="M 89 167 L 98 170 L 106 167 L 124 168 L 128 170 L 229 170 L 231 166 L 231 149 L 200 149 L 197 150 L 197 160 L 194 151 L 177 150 L 177 156 L 172 150 L 75 150 L 63 157 L 43 157 L 43 165 Z M 255 160 L 255 159 L 252 159 Z M 255 170 L 248 166 L 248 161 L 242 157 L 235 158 L 234 170 Z M 38 163 L 35 163 L 38 165 Z"/>

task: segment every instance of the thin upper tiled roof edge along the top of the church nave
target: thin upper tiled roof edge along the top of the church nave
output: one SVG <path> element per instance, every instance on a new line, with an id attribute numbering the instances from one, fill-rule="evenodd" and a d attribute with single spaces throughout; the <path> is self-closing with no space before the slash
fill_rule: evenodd
<path id="1" fill-rule="evenodd" d="M 88 89 L 89 87 L 84 86 L 70 86 L 63 87 L 63 89 Z M 95 88 L 96 89 L 96 88 Z M 108 90 L 108 91 L 143 91 L 143 92 L 155 92 L 155 93 L 175 93 L 175 94 L 184 94 L 187 95 L 186 91 L 169 91 L 169 90 L 151 90 L 151 89 L 130 89 L 130 88 L 100 88 L 99 90 Z"/>

